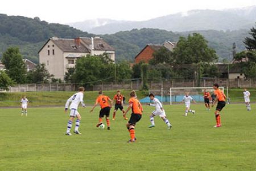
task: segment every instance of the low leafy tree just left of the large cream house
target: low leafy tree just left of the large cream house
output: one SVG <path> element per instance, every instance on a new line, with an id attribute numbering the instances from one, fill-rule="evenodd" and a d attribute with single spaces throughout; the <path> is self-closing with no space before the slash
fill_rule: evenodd
<path id="1" fill-rule="evenodd" d="M 46 65 L 41 63 L 36 65 L 35 70 L 31 70 L 27 74 L 29 83 L 48 83 L 54 75 L 49 74 Z"/>

